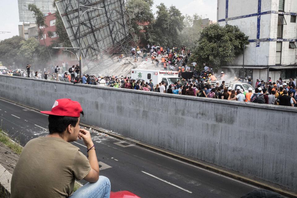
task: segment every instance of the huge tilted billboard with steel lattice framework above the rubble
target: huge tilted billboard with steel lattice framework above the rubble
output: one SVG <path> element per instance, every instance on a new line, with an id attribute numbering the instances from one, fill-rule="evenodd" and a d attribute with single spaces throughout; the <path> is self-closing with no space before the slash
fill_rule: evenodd
<path id="1" fill-rule="evenodd" d="M 106 68 L 116 54 L 130 53 L 135 44 L 125 0 L 79 0 L 82 71 Z M 56 2 L 73 47 L 79 47 L 77 0 Z M 103 9 L 92 9 L 88 7 Z"/>

